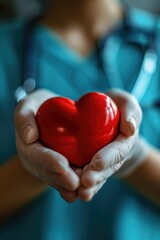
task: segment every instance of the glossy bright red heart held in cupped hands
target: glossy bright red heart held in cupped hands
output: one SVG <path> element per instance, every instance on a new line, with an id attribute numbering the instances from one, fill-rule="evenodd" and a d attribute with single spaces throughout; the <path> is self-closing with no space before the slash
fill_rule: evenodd
<path id="1" fill-rule="evenodd" d="M 105 94 L 88 93 L 74 102 L 55 97 L 36 115 L 42 144 L 83 167 L 118 134 L 120 112 Z"/>

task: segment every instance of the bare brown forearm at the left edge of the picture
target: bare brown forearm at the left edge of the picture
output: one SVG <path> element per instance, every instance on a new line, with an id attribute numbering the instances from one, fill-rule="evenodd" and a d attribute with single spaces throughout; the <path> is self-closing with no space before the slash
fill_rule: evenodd
<path id="1" fill-rule="evenodd" d="M 46 184 L 32 176 L 18 156 L 0 167 L 0 222 L 20 210 L 46 189 Z"/>

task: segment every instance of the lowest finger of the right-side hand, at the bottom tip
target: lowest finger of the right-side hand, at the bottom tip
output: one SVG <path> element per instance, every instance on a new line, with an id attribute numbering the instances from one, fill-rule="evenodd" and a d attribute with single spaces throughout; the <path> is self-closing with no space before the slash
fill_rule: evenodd
<path id="1" fill-rule="evenodd" d="M 96 186 L 93 186 L 92 188 L 85 188 L 81 187 L 78 190 L 78 197 L 85 202 L 89 202 L 93 199 L 93 197 L 98 193 L 98 191 L 102 188 L 102 186 L 105 184 L 106 180 L 97 184 Z"/>

